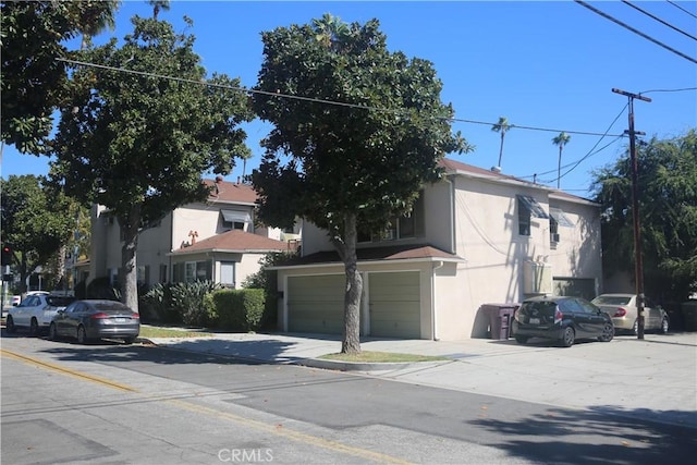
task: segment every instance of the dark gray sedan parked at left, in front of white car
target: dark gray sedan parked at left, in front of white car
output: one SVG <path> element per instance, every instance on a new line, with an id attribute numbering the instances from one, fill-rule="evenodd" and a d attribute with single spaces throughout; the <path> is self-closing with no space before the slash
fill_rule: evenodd
<path id="1" fill-rule="evenodd" d="M 131 344 L 140 333 L 140 316 L 115 301 L 76 301 L 60 310 L 51 321 L 49 339 L 74 338 L 85 344 L 90 340 L 121 339 Z"/>

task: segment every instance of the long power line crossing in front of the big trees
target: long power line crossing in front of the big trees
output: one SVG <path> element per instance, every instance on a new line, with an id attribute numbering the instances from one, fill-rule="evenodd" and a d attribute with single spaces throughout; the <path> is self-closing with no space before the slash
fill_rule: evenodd
<path id="1" fill-rule="evenodd" d="M 129 74 L 135 74 L 135 75 L 139 75 L 139 76 L 155 77 L 155 78 L 159 78 L 159 79 L 171 79 L 171 81 L 175 81 L 175 82 L 180 82 L 180 83 L 196 84 L 196 85 L 199 85 L 199 86 L 210 86 L 210 87 L 217 87 L 217 88 L 222 88 L 222 89 L 241 91 L 241 93 L 245 93 L 245 94 L 260 94 L 260 95 L 266 95 L 266 96 L 270 96 L 270 97 L 289 98 L 289 99 L 295 99 L 295 100 L 302 100 L 302 101 L 309 101 L 309 102 L 314 102 L 314 103 L 323 103 L 323 105 L 331 105 L 331 106 L 344 107 L 344 108 L 355 108 L 355 109 L 360 109 L 360 110 L 391 112 L 391 113 L 395 113 L 395 114 L 399 114 L 399 113 L 401 113 L 403 111 L 403 110 L 391 110 L 391 109 L 379 108 L 379 107 L 370 107 L 370 106 L 359 105 L 359 103 L 347 103 L 347 102 L 321 99 L 321 98 L 316 98 L 316 97 L 303 97 L 303 96 L 290 95 L 290 94 L 270 93 L 270 91 L 266 91 L 266 90 L 250 89 L 250 88 L 247 88 L 247 87 L 231 86 L 231 85 L 228 85 L 228 84 L 217 84 L 217 83 L 205 82 L 205 81 L 188 79 L 188 78 L 185 78 L 185 77 L 176 77 L 176 76 L 168 76 L 168 75 L 163 75 L 163 74 L 156 74 L 156 73 L 150 73 L 150 72 L 146 72 L 146 71 L 136 71 L 136 70 L 127 70 L 127 69 L 124 69 L 124 68 L 108 66 L 106 64 L 89 63 L 89 62 L 86 62 L 86 61 L 69 60 L 69 59 L 63 59 L 63 58 L 58 58 L 57 60 L 65 62 L 65 63 L 76 64 L 76 65 L 80 65 L 80 66 L 96 68 L 96 69 L 99 69 L 99 70 L 129 73 Z M 452 121 L 452 122 L 461 122 L 461 123 L 486 124 L 486 125 L 489 125 L 489 126 L 493 126 L 496 124 L 496 123 L 487 122 L 487 121 L 465 120 L 465 119 L 460 119 L 460 118 L 447 118 L 445 120 Z M 603 136 L 604 137 L 604 136 L 608 135 L 607 133 L 591 133 L 591 132 L 584 132 L 584 131 L 555 130 L 555 129 L 549 129 L 549 127 L 536 127 L 536 126 L 525 126 L 525 125 L 516 125 L 516 124 L 512 124 L 511 127 L 516 127 L 516 129 L 521 129 L 521 130 L 529 130 L 529 131 L 546 131 L 546 132 L 554 132 L 554 133 L 565 132 L 567 134 L 578 134 L 578 135 L 587 135 L 587 136 Z M 620 136 L 622 136 L 622 135 L 620 135 Z"/>

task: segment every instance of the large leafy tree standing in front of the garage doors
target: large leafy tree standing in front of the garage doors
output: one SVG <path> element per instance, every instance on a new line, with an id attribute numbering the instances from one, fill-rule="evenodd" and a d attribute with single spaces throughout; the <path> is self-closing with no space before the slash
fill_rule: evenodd
<path id="1" fill-rule="evenodd" d="M 377 20 L 325 15 L 261 38 L 254 107 L 274 127 L 253 173 L 260 218 L 286 227 L 297 216 L 328 231 L 346 274 L 342 352 L 358 353 L 358 225 L 380 230 L 408 212 L 444 154 L 469 147 L 451 131 L 432 64 L 390 52 Z"/>

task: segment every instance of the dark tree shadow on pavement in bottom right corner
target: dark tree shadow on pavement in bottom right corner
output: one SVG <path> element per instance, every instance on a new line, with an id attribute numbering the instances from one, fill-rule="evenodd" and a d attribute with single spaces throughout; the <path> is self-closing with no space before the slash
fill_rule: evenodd
<path id="1" fill-rule="evenodd" d="M 500 435 L 497 448 L 512 456 L 543 463 L 633 465 L 692 462 L 697 450 L 695 415 L 608 405 L 586 411 L 550 408 L 543 415 L 515 420 L 479 418 L 469 423 Z M 685 425 L 675 425 L 681 417 Z"/>

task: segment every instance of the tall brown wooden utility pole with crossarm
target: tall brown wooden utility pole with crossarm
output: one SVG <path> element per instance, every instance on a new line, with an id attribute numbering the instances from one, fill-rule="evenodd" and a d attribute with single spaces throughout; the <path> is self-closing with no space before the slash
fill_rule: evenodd
<path id="1" fill-rule="evenodd" d="M 634 131 L 634 99 L 651 101 L 650 98 L 639 94 L 632 94 L 625 90 L 612 89 L 615 94 L 621 94 L 629 99 L 629 130 L 625 134 L 629 135 L 629 159 L 632 162 L 632 215 L 634 217 L 634 280 L 636 282 L 636 307 L 637 307 L 637 339 L 644 339 L 644 308 L 646 298 L 644 296 L 644 260 L 641 258 L 641 232 L 639 229 L 639 174 L 636 161 L 636 135 L 645 133 Z"/>

